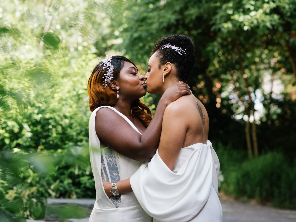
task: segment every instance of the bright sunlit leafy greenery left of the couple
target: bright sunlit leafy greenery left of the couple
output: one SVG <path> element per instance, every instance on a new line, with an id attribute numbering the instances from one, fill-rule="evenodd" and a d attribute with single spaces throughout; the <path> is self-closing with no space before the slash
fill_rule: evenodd
<path id="1" fill-rule="evenodd" d="M 92 44 L 100 35 L 94 30 L 101 24 L 99 7 L 92 1 L 46 3 L 1 4 L 3 218 L 42 219 L 47 197 L 95 195 L 87 81 L 97 64 Z"/>

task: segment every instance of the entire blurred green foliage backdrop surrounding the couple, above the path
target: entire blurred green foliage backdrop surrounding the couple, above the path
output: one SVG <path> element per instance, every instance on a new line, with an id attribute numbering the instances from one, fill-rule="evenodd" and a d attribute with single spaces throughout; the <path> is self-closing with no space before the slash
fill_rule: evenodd
<path id="1" fill-rule="evenodd" d="M 155 41 L 189 36 L 220 192 L 296 209 L 296 0 L 0 0 L 0 218 L 95 198 L 87 81 L 106 55 L 144 75 Z M 159 95 L 143 101 L 155 110 Z M 116 138 L 114 138 L 116 139 Z"/>

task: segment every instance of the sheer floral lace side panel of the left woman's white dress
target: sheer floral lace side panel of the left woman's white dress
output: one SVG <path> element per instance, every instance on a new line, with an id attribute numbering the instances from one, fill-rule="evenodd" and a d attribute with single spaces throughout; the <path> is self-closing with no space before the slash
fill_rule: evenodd
<path id="1" fill-rule="evenodd" d="M 115 152 L 113 149 L 110 149 L 109 147 L 102 149 L 101 177 L 102 180 L 108 181 L 110 183 L 120 181 Z M 121 194 L 119 194 L 118 196 L 111 196 L 110 200 L 115 207 L 119 207 L 121 202 Z"/>

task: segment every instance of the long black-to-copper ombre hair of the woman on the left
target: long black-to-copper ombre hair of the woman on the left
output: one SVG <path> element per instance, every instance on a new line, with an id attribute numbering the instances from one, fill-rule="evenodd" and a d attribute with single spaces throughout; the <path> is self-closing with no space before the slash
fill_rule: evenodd
<path id="1" fill-rule="evenodd" d="M 124 56 L 112 56 L 111 64 L 114 67 L 112 73 L 113 80 L 117 80 L 119 78 L 119 73 L 124 66 L 124 62 L 130 62 L 136 66 L 131 60 Z M 106 89 L 103 88 L 103 76 L 106 74 L 107 69 L 103 68 L 104 66 L 101 64 L 102 62 L 94 67 L 87 84 L 87 92 L 89 94 L 89 109 L 91 112 L 100 106 L 114 106 L 118 101 L 118 98 L 116 97 L 117 91 L 112 89 L 109 84 L 107 84 Z M 141 102 L 139 99 L 132 103 L 131 115 L 133 117 L 137 117 L 145 127 L 147 127 L 152 120 L 151 111 L 147 105 Z"/>

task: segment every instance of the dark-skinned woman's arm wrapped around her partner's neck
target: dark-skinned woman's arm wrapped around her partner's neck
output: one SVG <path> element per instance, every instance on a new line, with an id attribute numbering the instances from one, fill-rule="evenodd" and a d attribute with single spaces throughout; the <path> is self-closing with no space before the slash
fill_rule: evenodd
<path id="1" fill-rule="evenodd" d="M 154 117 L 141 135 L 121 116 L 109 108 L 101 108 L 96 115 L 96 134 L 116 152 L 133 160 L 151 160 L 158 147 L 163 113 L 170 102 L 190 94 L 189 86 L 179 82 L 170 86 L 161 97 Z"/>

